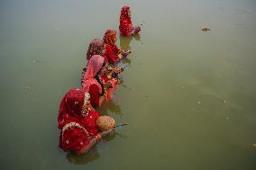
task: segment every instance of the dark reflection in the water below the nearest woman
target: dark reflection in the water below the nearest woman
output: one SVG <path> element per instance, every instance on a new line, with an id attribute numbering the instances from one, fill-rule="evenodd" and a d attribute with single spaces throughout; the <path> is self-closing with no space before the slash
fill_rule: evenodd
<path id="1" fill-rule="evenodd" d="M 89 162 L 96 160 L 99 157 L 100 155 L 96 147 L 92 148 L 89 152 L 82 155 L 78 155 L 73 152 L 69 152 L 67 154 L 67 159 L 69 160 L 69 163 L 76 164 L 76 165 L 87 164 Z"/>

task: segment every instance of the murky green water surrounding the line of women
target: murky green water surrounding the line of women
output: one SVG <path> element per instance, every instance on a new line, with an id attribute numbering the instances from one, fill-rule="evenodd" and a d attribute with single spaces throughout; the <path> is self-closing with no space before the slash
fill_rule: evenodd
<path id="1" fill-rule="evenodd" d="M 141 39 L 100 112 L 129 126 L 86 156 L 67 155 L 60 99 L 80 86 L 89 41 L 118 30 L 124 4 Z M 255 9 L 255 0 L 1 0 L 1 169 L 256 169 Z"/>

